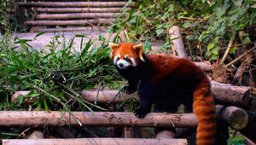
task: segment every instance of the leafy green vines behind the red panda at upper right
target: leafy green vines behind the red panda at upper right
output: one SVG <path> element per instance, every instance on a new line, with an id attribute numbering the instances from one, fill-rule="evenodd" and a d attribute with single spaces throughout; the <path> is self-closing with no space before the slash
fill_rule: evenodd
<path id="1" fill-rule="evenodd" d="M 112 32 L 125 30 L 136 41 L 164 40 L 165 47 L 169 48 L 168 28 L 181 26 L 186 48 L 195 56 L 201 53 L 212 60 L 218 59 L 219 50 L 227 47 L 230 38 L 242 44 L 250 43 L 250 26 L 256 22 L 253 0 L 145 0 L 139 1 L 138 8 L 129 10 L 128 15 L 126 12 L 123 9 Z M 241 36 L 240 31 L 243 31 Z M 236 49 L 234 46 L 230 53 L 235 54 Z"/>

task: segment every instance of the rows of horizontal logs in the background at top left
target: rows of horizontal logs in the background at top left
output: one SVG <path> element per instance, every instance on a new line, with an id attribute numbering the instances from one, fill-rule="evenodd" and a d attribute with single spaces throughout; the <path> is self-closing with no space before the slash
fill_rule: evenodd
<path id="1" fill-rule="evenodd" d="M 48 27 L 47 29 L 39 28 L 39 32 L 83 31 L 89 29 L 86 26 L 109 26 L 125 4 L 125 1 L 27 1 L 16 3 L 15 12 L 17 20 L 22 23 L 25 19 L 25 9 L 35 11 L 32 20 L 26 20 L 25 25 L 34 26 L 34 28 Z M 56 28 L 57 26 L 64 27 Z"/>

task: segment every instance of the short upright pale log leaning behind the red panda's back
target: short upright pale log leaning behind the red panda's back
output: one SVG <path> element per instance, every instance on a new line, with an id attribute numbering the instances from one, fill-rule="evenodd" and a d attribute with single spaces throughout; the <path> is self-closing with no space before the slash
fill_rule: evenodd
<path id="1" fill-rule="evenodd" d="M 172 39 L 172 48 L 177 51 L 179 57 L 188 58 L 188 55 L 184 49 L 182 32 L 178 26 L 172 26 L 169 29 L 169 35 Z"/>

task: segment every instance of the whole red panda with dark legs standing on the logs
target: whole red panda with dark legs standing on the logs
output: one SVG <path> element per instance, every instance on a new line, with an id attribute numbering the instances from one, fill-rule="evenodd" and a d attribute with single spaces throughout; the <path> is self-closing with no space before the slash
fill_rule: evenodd
<path id="1" fill-rule="evenodd" d="M 183 104 L 198 118 L 197 145 L 216 143 L 217 127 L 211 84 L 201 68 L 192 61 L 169 55 L 146 55 L 142 44 L 110 43 L 111 58 L 119 74 L 128 80 L 125 93 L 137 90 L 138 118 L 150 112 L 151 105 L 176 113 Z"/>

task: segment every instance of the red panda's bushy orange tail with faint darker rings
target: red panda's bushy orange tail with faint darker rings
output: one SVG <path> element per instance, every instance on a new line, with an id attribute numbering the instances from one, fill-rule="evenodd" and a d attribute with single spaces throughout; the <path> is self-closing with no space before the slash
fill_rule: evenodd
<path id="1" fill-rule="evenodd" d="M 194 92 L 193 110 L 198 118 L 196 145 L 214 145 L 217 140 L 215 105 L 211 95 L 211 84 L 204 80 Z"/>

